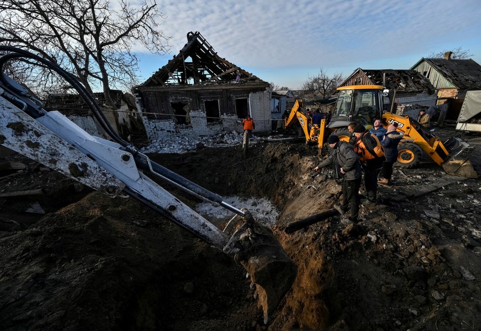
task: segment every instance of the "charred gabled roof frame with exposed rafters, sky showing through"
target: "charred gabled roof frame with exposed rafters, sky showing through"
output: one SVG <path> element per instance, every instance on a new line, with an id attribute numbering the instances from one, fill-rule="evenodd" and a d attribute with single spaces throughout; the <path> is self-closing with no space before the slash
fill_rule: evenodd
<path id="1" fill-rule="evenodd" d="M 158 69 L 142 86 L 269 84 L 217 55 L 199 32 L 187 33 L 179 54 Z"/>

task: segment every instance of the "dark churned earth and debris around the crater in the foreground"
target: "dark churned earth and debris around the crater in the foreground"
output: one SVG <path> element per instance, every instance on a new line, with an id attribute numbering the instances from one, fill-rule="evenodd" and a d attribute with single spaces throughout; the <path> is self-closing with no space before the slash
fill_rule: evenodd
<path id="1" fill-rule="evenodd" d="M 479 330 L 478 180 L 434 165 L 395 169 L 395 185 L 379 189 L 384 204 L 362 206 L 359 224 L 331 217 L 286 234 L 290 222 L 331 208 L 340 186 L 329 171 L 311 171 L 318 160 L 303 144 L 259 143 L 250 153 L 151 157 L 212 192 L 279 207 L 273 231 L 298 277 L 269 325 L 232 259 L 131 198 L 79 190 L 45 171 L 2 181 L 6 192 L 40 179 L 63 184 L 28 222 L 18 206 L 27 198 L 3 199 L 1 329 Z"/>

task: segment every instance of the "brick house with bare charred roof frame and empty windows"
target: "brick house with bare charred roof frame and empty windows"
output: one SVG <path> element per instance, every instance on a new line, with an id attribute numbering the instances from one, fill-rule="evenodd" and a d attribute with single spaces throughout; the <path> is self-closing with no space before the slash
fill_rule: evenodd
<path id="1" fill-rule="evenodd" d="M 219 57 L 199 32 L 187 33 L 180 53 L 134 88 L 150 140 L 169 136 L 271 131 L 271 85 Z"/>

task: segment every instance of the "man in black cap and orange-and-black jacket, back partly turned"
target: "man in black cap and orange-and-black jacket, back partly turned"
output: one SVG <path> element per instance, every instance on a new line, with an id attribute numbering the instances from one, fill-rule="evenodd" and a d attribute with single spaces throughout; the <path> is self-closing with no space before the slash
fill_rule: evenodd
<path id="1" fill-rule="evenodd" d="M 366 189 L 367 203 L 376 203 L 377 176 L 383 166 L 386 156 L 381 143 L 375 134 L 369 133 L 363 125 L 354 128 L 356 143 L 354 151 L 359 155 L 362 169 L 364 170 L 364 188 Z"/>

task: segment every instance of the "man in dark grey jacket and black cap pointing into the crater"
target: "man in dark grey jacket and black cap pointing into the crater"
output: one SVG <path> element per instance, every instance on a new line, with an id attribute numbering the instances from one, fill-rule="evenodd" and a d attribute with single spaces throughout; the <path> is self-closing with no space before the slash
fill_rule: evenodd
<path id="1" fill-rule="evenodd" d="M 361 186 L 361 164 L 353 147 L 345 141 L 339 141 L 337 135 L 328 137 L 328 144 L 333 149 L 332 154 L 314 170 L 334 165 L 334 178 L 342 177 L 342 204 L 334 204 L 334 208 L 343 215 L 351 207 L 351 216 L 341 219 L 341 223 L 349 225 L 358 221 L 359 215 L 359 187 Z"/>

